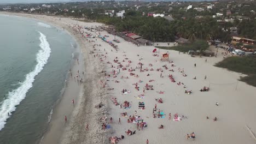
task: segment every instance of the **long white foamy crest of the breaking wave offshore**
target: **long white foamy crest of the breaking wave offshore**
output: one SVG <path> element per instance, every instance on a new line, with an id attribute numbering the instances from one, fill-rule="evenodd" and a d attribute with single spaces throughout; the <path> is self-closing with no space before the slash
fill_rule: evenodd
<path id="1" fill-rule="evenodd" d="M 24 82 L 20 83 L 20 87 L 9 92 L 7 99 L 0 103 L 0 130 L 4 128 L 7 119 L 11 116 L 11 112 L 15 111 L 16 105 L 19 105 L 20 102 L 25 99 L 26 93 L 33 86 L 34 77 L 43 70 L 44 65 L 50 57 L 51 48 L 46 37 L 43 33 L 38 33 L 40 34 L 39 39 L 41 43 L 39 46 L 41 49 L 37 53 L 37 65 L 33 71 L 26 75 L 26 79 Z M 8 116 L 8 112 L 10 116 Z"/>

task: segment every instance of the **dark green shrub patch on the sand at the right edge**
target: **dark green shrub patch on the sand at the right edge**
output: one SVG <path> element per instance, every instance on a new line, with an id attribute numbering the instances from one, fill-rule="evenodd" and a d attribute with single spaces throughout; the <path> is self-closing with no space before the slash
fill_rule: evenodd
<path id="1" fill-rule="evenodd" d="M 228 57 L 216 66 L 248 75 L 240 80 L 256 87 L 256 57 Z"/>

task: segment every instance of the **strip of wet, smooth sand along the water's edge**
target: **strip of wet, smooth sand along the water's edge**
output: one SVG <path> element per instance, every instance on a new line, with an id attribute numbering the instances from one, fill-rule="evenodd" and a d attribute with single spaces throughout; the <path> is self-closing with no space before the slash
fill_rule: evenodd
<path id="1" fill-rule="evenodd" d="M 80 65 L 77 65 L 75 58 L 71 59 L 71 61 L 74 61 L 73 63 L 71 63 L 73 64 L 71 65 L 72 71 L 76 71 L 77 69 L 79 69 L 80 71 L 87 71 L 86 69 L 84 69 L 85 68 L 84 61 L 86 61 L 87 58 L 84 58 L 84 53 L 82 52 L 82 47 L 81 47 L 84 44 L 82 44 L 83 42 L 80 41 L 80 39 L 78 38 L 78 35 L 72 34 L 73 31 L 71 28 L 63 24 L 61 25 L 60 23 L 55 23 L 51 20 L 43 19 L 45 15 L 40 15 L 41 17 L 37 17 L 37 15 L 24 14 L 24 13 L 4 13 L 4 12 L 2 13 L 1 12 L 1 14 L 26 17 L 29 19 L 35 19 L 38 21 L 49 23 L 50 25 L 53 25 L 59 29 L 65 28 L 65 32 L 67 32 L 71 37 L 73 37 L 73 39 L 75 40 L 75 43 L 77 44 L 77 47 L 74 47 L 74 48 L 79 49 L 79 50 L 75 50 L 74 52 L 79 53 L 78 57 L 79 57 Z M 85 75 L 86 75 L 86 72 L 85 72 Z M 84 83 L 86 83 L 85 76 L 83 76 L 82 78 L 84 80 Z M 75 88 L 74 87 L 70 88 L 69 86 L 75 84 L 75 82 L 73 82 L 73 77 L 68 75 L 65 87 L 63 87 L 64 92 L 61 94 L 59 100 L 56 101 L 53 107 L 51 121 L 48 123 L 48 128 L 46 129 L 46 131 L 44 131 L 44 134 L 41 137 L 41 139 L 38 140 L 38 143 L 42 143 L 42 144 L 43 143 L 60 143 L 61 137 L 65 136 L 65 132 L 68 131 L 67 129 L 70 129 L 73 123 L 72 121 L 74 121 L 73 117 L 77 115 L 78 110 L 81 107 L 83 107 L 81 105 L 81 102 L 82 102 L 81 100 L 83 99 L 83 96 L 84 96 L 84 83 L 82 83 L 82 86 L 78 88 L 79 89 L 78 92 L 74 92 Z M 68 98 L 71 95 L 76 95 L 75 97 L 73 97 L 75 101 L 74 107 L 71 105 L 72 99 Z M 67 105 L 69 106 L 67 107 Z M 65 123 L 64 116 L 60 116 L 61 113 L 63 114 L 63 108 L 66 108 L 66 111 L 69 111 L 67 112 L 68 122 L 67 124 L 65 124 L 66 127 L 63 127 L 63 123 Z"/>

